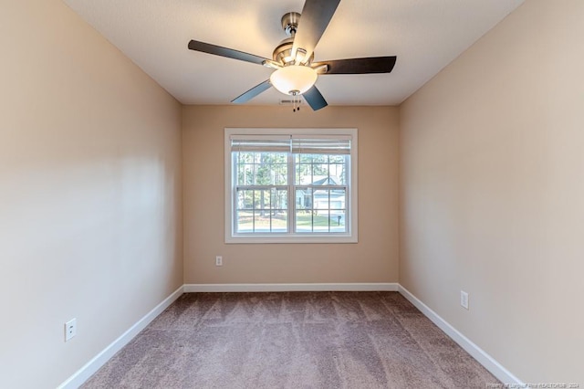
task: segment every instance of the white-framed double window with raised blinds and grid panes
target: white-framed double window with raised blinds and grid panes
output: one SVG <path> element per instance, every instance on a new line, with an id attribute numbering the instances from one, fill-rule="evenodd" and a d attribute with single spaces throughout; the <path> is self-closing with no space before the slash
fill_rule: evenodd
<path id="1" fill-rule="evenodd" d="M 357 130 L 225 129 L 225 241 L 357 242 Z"/>

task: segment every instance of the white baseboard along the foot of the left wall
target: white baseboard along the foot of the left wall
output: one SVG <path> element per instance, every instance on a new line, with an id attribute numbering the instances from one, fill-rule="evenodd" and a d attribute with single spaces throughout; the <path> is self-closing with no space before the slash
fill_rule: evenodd
<path id="1" fill-rule="evenodd" d="M 154 309 L 148 312 L 140 321 L 131 326 L 128 331 L 122 333 L 118 339 L 111 342 L 111 344 L 102 352 L 99 352 L 99 354 L 91 361 L 83 365 L 83 367 L 71 375 L 67 381 L 60 384 L 58 389 L 78 388 L 81 384 L 85 383 L 89 377 L 93 375 L 93 373 L 96 373 L 101 366 L 107 363 L 116 352 L 119 352 L 122 347 L 128 344 L 140 331 L 146 328 L 146 326 L 160 315 L 163 310 L 166 310 L 174 300 L 178 299 L 183 294 L 183 289 L 184 287 L 181 286 L 179 289 L 174 290 L 169 297 L 154 307 Z"/>

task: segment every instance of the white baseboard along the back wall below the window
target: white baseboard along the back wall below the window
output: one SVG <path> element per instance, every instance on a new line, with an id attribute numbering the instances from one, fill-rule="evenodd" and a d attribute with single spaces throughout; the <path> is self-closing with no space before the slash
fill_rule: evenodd
<path id="1" fill-rule="evenodd" d="M 184 284 L 185 293 L 195 292 L 270 292 L 270 291 L 398 291 L 400 284 Z"/>

